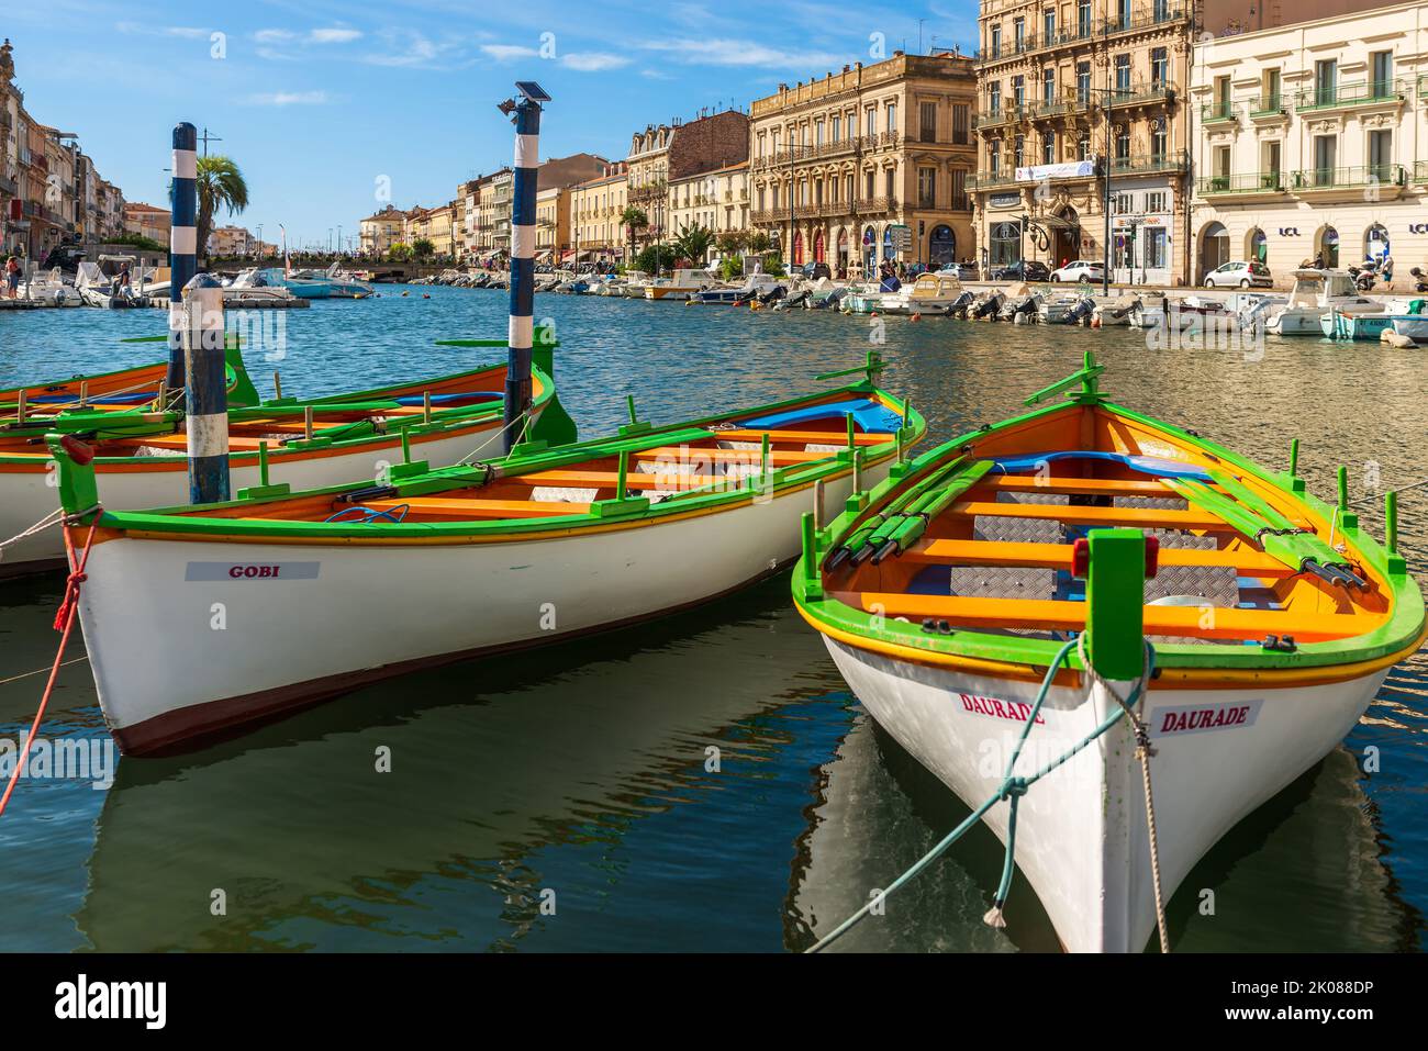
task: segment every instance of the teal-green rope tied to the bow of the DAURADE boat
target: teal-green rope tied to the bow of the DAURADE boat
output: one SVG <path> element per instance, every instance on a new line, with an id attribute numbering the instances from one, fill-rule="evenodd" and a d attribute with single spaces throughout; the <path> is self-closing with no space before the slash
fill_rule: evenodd
<path id="1" fill-rule="evenodd" d="M 1061 650 L 1057 651 L 1055 658 L 1047 667 L 1047 674 L 1041 680 L 1041 688 L 1037 691 L 1037 700 L 1031 705 L 1031 711 L 1027 714 L 1027 721 L 1021 728 L 1021 735 L 1017 738 L 1015 747 L 1011 751 L 1011 758 L 1007 761 L 1007 770 L 1002 774 L 1001 785 L 997 788 L 997 791 L 992 795 L 990 795 L 971 814 L 968 814 L 961 824 L 958 824 L 952 831 L 950 831 L 945 837 L 942 837 L 937 843 L 937 845 L 932 847 L 932 850 L 930 850 L 927 854 L 918 858 L 911 868 L 908 868 L 905 873 L 902 873 L 902 875 L 894 880 L 887 890 L 881 891 L 877 897 L 871 898 L 868 904 L 865 904 L 857 912 L 854 912 L 841 924 L 834 927 L 828 934 L 825 934 L 817 942 L 804 950 L 804 952 L 821 952 L 824 948 L 827 948 L 834 941 L 847 934 L 850 930 L 853 930 L 853 927 L 858 921 L 861 921 L 865 915 L 868 915 L 877 904 L 887 900 L 894 891 L 897 891 L 900 887 L 902 887 L 915 875 L 918 875 L 924 868 L 932 864 L 938 857 L 942 855 L 942 853 L 948 847 L 951 847 L 954 843 L 962 838 L 962 835 L 965 835 L 968 830 L 971 830 L 978 821 L 981 821 L 982 815 L 985 815 L 987 811 L 990 811 L 1002 800 L 1011 801 L 1011 817 L 1007 827 L 1007 855 L 1002 863 L 1001 882 L 997 887 L 997 895 L 992 900 L 992 908 L 991 911 L 987 912 L 984 920 L 992 927 L 1007 925 L 1005 920 L 1001 918 L 1001 908 L 1007 901 L 1008 891 L 1011 890 L 1011 875 L 1012 871 L 1015 870 L 1017 801 L 1027 794 L 1027 790 L 1031 785 L 1034 785 L 1037 781 L 1040 781 L 1051 771 L 1068 763 L 1088 744 L 1091 744 L 1098 737 L 1105 734 L 1105 731 L 1114 727 L 1121 720 L 1121 717 L 1125 715 L 1127 711 L 1131 707 L 1134 707 L 1135 703 L 1140 700 L 1141 691 L 1145 688 L 1145 684 L 1150 681 L 1151 674 L 1155 671 L 1155 648 L 1150 643 L 1145 643 L 1145 674 L 1135 684 L 1135 688 L 1131 690 L 1131 694 L 1130 697 L 1127 697 L 1125 704 L 1118 705 L 1115 713 L 1108 715 L 1095 730 L 1082 737 L 1081 741 L 1078 741 L 1077 744 L 1067 748 L 1067 751 L 1064 751 L 1061 755 L 1051 760 L 1051 763 L 1044 765 L 1031 777 L 1015 777 L 1011 771 L 1015 770 L 1017 760 L 1021 757 L 1021 748 L 1025 744 L 1027 737 L 1031 734 L 1031 727 L 1035 725 L 1037 715 L 1041 713 L 1041 705 L 1045 704 L 1047 694 L 1051 693 L 1051 683 L 1055 680 L 1057 670 L 1061 667 L 1062 661 L 1065 661 L 1065 658 L 1070 655 L 1071 650 L 1077 648 L 1078 641 L 1080 641 L 1078 638 L 1068 640 L 1065 645 L 1062 645 Z"/>

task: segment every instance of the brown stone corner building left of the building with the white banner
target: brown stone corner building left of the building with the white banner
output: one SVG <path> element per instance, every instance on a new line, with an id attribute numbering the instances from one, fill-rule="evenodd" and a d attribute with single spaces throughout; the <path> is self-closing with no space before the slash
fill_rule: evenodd
<path id="1" fill-rule="evenodd" d="M 750 110 L 750 224 L 834 273 L 970 258 L 975 99 L 972 61 L 950 53 L 780 84 Z"/>

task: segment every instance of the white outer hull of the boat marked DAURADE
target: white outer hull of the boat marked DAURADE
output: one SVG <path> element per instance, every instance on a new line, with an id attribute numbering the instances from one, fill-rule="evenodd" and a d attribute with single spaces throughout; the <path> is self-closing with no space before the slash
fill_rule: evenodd
<path id="1" fill-rule="evenodd" d="M 825 637 L 868 713 L 968 807 L 997 793 L 1040 683 L 898 661 Z M 1328 754 L 1371 703 L 1387 670 L 1298 688 L 1155 690 L 1145 711 L 1157 840 L 1168 901 L 1225 833 Z M 1122 684 L 1122 694 L 1125 693 Z M 1100 688 L 1054 685 L 1015 768 L 1030 774 L 1115 711 Z M 1181 728 L 1181 715 L 1221 721 Z M 985 820 L 1005 843 L 1007 803 Z M 1022 797 L 1017 865 L 1072 952 L 1140 952 L 1155 930 L 1141 768 L 1117 723 Z"/>

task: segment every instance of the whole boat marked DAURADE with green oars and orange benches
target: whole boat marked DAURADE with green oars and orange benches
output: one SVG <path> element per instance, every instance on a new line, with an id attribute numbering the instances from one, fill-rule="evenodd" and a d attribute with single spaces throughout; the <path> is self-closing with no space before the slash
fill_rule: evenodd
<path id="1" fill-rule="evenodd" d="M 1155 750 L 1165 900 L 1354 727 L 1424 641 L 1424 600 L 1395 551 L 1395 510 L 1379 545 L 1342 476 L 1338 506 L 1321 503 L 1292 463 L 1269 471 L 1112 404 L 1100 371 L 1088 354 L 1027 404 L 1074 387 L 1071 401 L 954 438 L 828 528 L 805 527 L 794 598 L 871 715 L 970 807 L 998 798 L 1008 767 L 1031 777 L 1091 738 L 1018 800 L 1015 860 L 1065 948 L 1135 952 L 1157 921 L 1137 740 L 1065 651 L 1104 624 L 1087 633 L 1094 650 L 1130 614 L 1114 594 L 1087 600 L 1084 553 L 1128 538 L 1158 565 L 1144 584 L 1134 565 L 1122 594 L 1142 598 L 1154 647 L 1131 701 Z M 1138 634 L 1131 647 L 1121 697 L 1144 671 Z M 985 813 L 1004 843 L 1007 798 Z"/>

